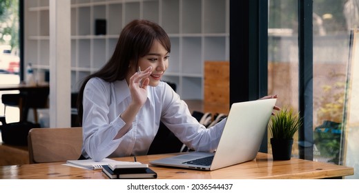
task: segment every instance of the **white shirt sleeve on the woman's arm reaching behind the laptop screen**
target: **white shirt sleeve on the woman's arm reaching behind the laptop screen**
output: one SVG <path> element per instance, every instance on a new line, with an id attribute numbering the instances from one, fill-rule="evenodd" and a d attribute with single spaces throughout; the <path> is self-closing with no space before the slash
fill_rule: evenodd
<path id="1" fill-rule="evenodd" d="M 201 152 L 213 152 L 217 149 L 226 119 L 211 128 L 205 128 L 192 116 L 188 105 L 179 99 L 179 95 L 168 85 L 164 91 L 163 103 L 161 120 L 182 143 Z"/>

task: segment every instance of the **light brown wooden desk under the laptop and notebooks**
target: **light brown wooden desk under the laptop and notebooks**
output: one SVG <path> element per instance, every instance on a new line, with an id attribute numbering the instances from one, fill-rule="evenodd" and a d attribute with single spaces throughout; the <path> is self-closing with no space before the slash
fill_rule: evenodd
<path id="1" fill-rule="evenodd" d="M 138 156 L 137 161 L 148 163 L 153 159 L 173 154 Z M 133 161 L 133 157 L 117 158 Z M 37 163 L 0 167 L 0 179 L 107 179 L 101 170 L 85 170 L 59 163 Z M 211 172 L 150 166 L 157 179 L 324 179 L 353 175 L 353 167 L 291 159 L 273 161 L 271 154 L 259 153 L 253 161 L 224 167 Z"/>

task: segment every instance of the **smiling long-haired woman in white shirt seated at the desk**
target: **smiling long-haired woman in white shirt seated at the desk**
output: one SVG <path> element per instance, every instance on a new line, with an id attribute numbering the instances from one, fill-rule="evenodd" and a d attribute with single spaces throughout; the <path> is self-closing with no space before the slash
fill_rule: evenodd
<path id="1" fill-rule="evenodd" d="M 170 39 L 156 23 L 134 20 L 122 30 L 113 56 L 79 91 L 86 159 L 147 154 L 160 121 L 188 148 L 217 148 L 226 119 L 206 129 L 160 81 L 170 52 Z"/>

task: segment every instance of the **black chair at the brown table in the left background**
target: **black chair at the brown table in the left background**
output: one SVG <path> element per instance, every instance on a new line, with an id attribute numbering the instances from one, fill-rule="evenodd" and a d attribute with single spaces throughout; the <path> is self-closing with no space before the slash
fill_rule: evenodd
<path id="1" fill-rule="evenodd" d="M 38 88 L 35 90 L 21 91 L 19 94 L 3 94 L 1 101 L 4 104 L 4 114 L 6 107 L 18 107 L 20 112 L 20 122 L 28 121 L 28 111 L 32 108 L 35 123 L 38 123 L 38 108 L 48 108 L 48 95 L 50 88 Z"/>

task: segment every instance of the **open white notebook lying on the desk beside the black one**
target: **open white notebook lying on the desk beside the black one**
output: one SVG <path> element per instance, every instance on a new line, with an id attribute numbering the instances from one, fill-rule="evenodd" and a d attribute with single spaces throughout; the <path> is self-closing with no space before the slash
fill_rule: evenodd
<path id="1" fill-rule="evenodd" d="M 105 158 L 102 161 L 93 161 L 93 159 L 84 160 L 68 160 L 65 165 L 72 167 L 81 167 L 88 170 L 101 170 L 103 165 L 113 165 L 115 167 L 148 167 L 147 164 L 142 164 L 138 161 L 116 161 L 113 159 Z"/>

